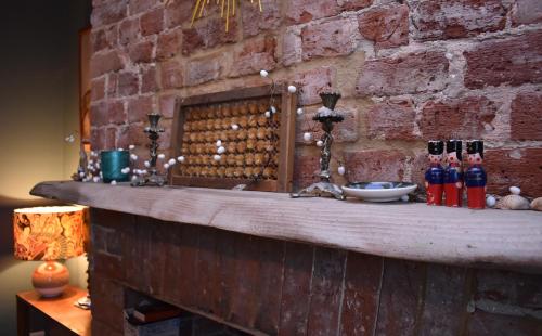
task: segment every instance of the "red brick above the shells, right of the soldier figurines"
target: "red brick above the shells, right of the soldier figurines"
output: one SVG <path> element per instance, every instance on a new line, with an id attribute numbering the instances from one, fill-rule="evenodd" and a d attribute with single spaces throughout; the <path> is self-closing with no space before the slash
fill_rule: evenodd
<path id="1" fill-rule="evenodd" d="M 542 148 L 488 150 L 483 155 L 488 173 L 488 193 L 509 194 L 508 188 L 521 188 L 521 194 L 542 195 Z"/>

